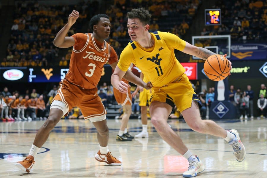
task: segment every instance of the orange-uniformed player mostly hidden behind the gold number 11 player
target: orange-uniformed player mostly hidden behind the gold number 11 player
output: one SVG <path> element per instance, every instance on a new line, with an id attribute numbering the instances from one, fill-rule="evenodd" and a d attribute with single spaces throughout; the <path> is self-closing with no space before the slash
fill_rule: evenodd
<path id="1" fill-rule="evenodd" d="M 131 70 L 133 66 L 131 65 L 129 67 L 129 70 Z M 129 85 L 129 82 L 125 79 L 122 79 L 124 83 Z M 116 88 L 113 88 L 114 97 L 119 105 L 123 107 L 124 113 L 123 117 L 121 118 L 121 125 L 120 125 L 120 131 L 118 135 L 116 136 L 116 140 L 118 141 L 132 141 L 134 138 L 127 132 L 127 124 L 129 121 L 129 118 L 132 114 L 132 96 L 131 96 L 131 89 L 128 88 L 127 93 L 121 93 Z"/>

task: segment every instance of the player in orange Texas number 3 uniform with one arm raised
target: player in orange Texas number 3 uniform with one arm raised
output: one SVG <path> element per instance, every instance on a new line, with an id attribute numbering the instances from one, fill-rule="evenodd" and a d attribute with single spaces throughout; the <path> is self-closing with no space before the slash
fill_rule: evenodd
<path id="1" fill-rule="evenodd" d="M 109 129 L 107 127 L 106 109 L 97 95 L 97 87 L 103 66 L 109 62 L 115 69 L 118 58 L 115 50 L 104 40 L 110 34 L 109 17 L 104 14 L 95 15 L 90 20 L 90 29 L 93 33 L 77 33 L 66 36 L 71 26 L 79 17 L 79 12 L 72 11 L 68 23 L 58 32 L 54 39 L 57 47 L 68 48 L 73 46 L 69 71 L 65 79 L 61 80 L 58 93 L 53 99 L 48 119 L 37 132 L 29 155 L 16 163 L 23 171 L 30 172 L 34 165 L 35 156 L 46 142 L 50 131 L 55 127 L 63 115 L 77 106 L 80 107 L 85 120 L 90 120 L 96 127 L 99 151 L 95 159 L 112 166 L 122 163 L 111 155 L 108 150 Z M 125 78 L 136 85 L 148 88 L 139 77 L 128 71 Z M 123 84 L 121 84 L 122 86 Z"/>

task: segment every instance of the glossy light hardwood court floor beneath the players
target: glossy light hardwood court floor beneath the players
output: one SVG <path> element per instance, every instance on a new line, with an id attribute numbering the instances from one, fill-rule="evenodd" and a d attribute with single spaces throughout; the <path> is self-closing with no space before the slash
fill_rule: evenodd
<path id="1" fill-rule="evenodd" d="M 120 120 L 108 120 L 109 150 L 123 162 L 107 166 L 94 159 L 98 151 L 96 130 L 90 121 L 61 120 L 36 156 L 31 173 L 14 164 L 28 155 L 36 131 L 45 121 L 0 123 L 0 177 L 182 177 L 188 163 L 170 148 L 149 122 L 149 138 L 132 142 L 115 140 Z M 239 131 L 246 147 L 243 162 L 235 160 L 232 148 L 221 138 L 192 131 L 186 123 L 170 120 L 169 124 L 187 147 L 200 157 L 206 170 L 199 178 L 267 177 L 267 120 L 217 122 L 225 129 Z M 142 129 L 140 120 L 130 120 L 132 135 Z"/>

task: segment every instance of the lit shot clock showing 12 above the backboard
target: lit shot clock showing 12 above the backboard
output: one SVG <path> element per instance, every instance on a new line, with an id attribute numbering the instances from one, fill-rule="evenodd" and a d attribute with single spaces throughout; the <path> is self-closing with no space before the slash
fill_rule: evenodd
<path id="1" fill-rule="evenodd" d="M 205 25 L 221 25 L 221 9 L 205 9 Z"/>

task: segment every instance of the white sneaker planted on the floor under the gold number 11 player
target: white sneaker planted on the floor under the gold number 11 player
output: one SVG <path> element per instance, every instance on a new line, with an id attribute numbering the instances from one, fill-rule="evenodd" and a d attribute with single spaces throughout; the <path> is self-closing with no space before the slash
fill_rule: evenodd
<path id="1" fill-rule="evenodd" d="M 183 177 L 196 177 L 198 173 L 201 173 L 205 170 L 205 166 L 202 164 L 202 161 L 196 155 L 196 158 L 193 158 L 189 162 L 188 170 L 183 173 Z"/>

